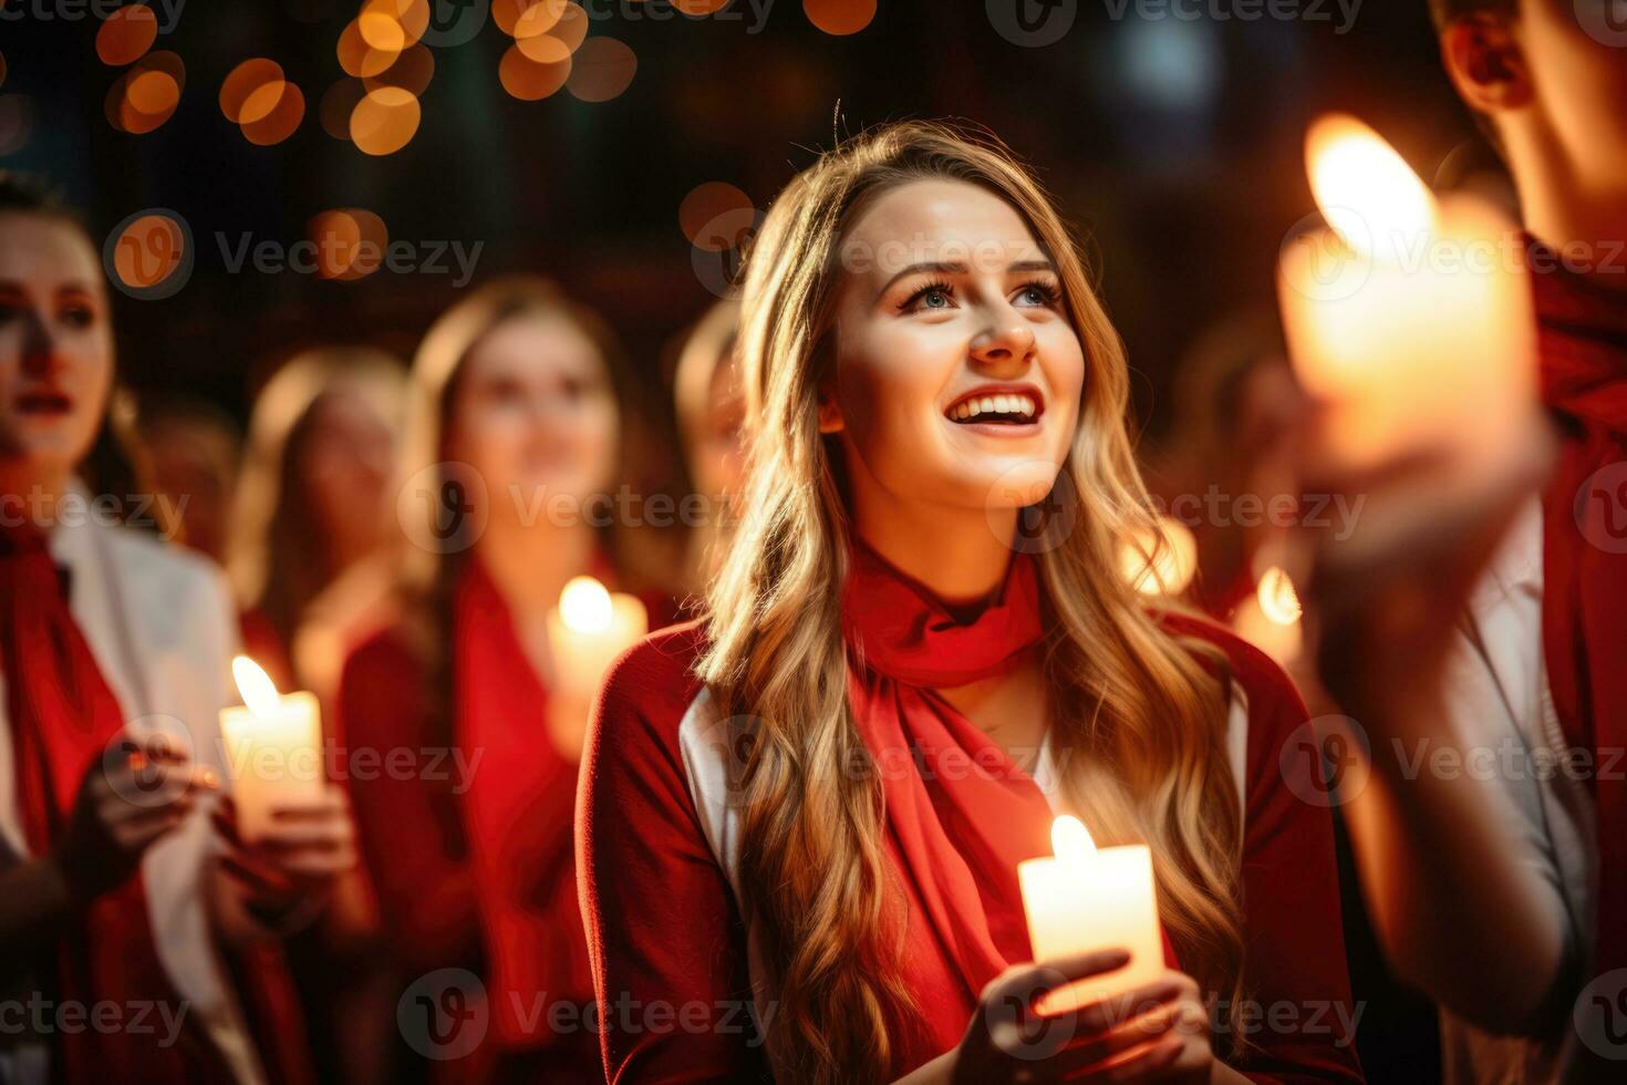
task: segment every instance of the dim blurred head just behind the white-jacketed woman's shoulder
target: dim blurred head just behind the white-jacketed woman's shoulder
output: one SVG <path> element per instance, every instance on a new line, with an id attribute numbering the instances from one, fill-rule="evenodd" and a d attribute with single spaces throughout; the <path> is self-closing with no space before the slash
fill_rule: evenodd
<path id="1" fill-rule="evenodd" d="M 143 399 L 135 434 L 142 472 L 174 519 L 174 542 L 226 563 L 242 434 L 221 408 L 185 395 Z"/>

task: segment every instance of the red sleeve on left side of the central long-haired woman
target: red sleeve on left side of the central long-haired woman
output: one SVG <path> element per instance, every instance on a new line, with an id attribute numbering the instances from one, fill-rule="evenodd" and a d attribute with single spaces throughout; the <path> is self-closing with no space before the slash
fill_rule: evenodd
<path id="1" fill-rule="evenodd" d="M 678 724 L 700 682 L 693 623 L 612 669 L 578 789 L 582 921 L 605 1078 L 770 1080 L 752 1020 L 745 927 L 690 795 Z"/>

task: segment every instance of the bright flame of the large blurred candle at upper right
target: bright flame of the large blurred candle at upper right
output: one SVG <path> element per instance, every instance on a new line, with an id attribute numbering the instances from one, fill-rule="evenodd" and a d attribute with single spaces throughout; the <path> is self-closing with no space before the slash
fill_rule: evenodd
<path id="1" fill-rule="evenodd" d="M 1381 135 L 1349 114 L 1328 114 L 1305 137 L 1311 192 L 1352 249 L 1404 241 L 1435 228 L 1435 197 Z"/>

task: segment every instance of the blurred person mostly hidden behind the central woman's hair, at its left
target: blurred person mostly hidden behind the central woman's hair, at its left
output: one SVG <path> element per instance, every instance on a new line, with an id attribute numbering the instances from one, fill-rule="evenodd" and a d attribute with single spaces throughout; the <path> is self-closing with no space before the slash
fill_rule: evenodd
<path id="1" fill-rule="evenodd" d="M 704 519 L 693 524 L 683 558 L 683 590 L 704 592 L 722 560 L 727 503 L 745 468 L 745 392 L 734 340 L 740 303 L 719 301 L 690 329 L 672 379 L 678 439 Z"/>

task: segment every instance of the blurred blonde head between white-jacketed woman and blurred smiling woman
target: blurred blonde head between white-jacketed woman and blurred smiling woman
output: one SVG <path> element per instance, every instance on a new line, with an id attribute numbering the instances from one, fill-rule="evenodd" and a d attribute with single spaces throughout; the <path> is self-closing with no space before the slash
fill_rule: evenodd
<path id="1" fill-rule="evenodd" d="M 321 346 L 254 400 L 226 568 L 249 654 L 283 688 L 298 682 L 329 701 L 345 638 L 387 584 L 403 390 L 390 355 Z"/>

